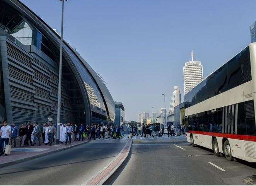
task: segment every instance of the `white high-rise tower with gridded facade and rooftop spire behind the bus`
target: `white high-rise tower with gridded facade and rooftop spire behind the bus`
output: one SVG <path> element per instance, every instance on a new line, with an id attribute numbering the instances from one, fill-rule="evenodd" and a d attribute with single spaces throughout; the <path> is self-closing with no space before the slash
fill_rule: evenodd
<path id="1" fill-rule="evenodd" d="M 191 61 L 186 62 L 183 67 L 183 76 L 184 94 L 187 94 L 203 80 L 203 66 L 200 61 L 194 61 L 193 50 L 191 52 Z"/>

